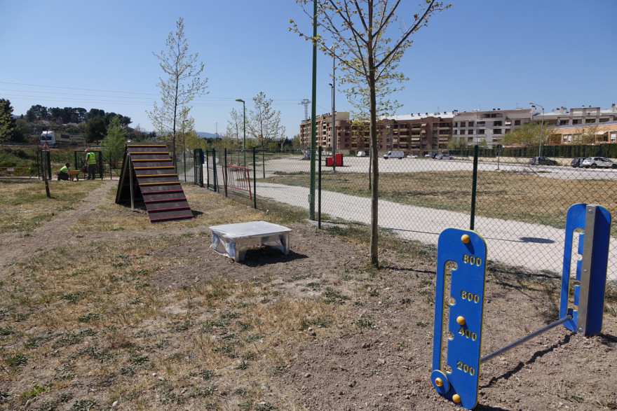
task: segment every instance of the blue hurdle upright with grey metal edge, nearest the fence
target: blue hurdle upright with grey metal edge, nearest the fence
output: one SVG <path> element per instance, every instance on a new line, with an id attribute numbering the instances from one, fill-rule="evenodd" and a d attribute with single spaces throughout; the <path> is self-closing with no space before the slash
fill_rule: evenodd
<path id="1" fill-rule="evenodd" d="M 580 285 L 574 286 L 573 300 L 569 300 L 571 256 L 576 228 L 583 229 L 583 233 L 578 236 L 577 250 L 582 259 L 576 260 L 576 280 L 580 281 Z M 566 321 L 564 326 L 586 337 L 596 335 L 602 330 L 610 237 L 611 214 L 606 208 L 592 204 L 574 204 L 568 209 L 560 318 L 571 315 L 573 318 Z M 569 307 L 569 302 L 577 309 Z"/>

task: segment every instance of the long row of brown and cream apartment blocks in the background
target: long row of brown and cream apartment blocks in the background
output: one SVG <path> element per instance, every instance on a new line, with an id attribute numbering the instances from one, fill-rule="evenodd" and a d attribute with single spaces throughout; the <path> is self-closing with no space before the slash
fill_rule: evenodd
<path id="1" fill-rule="evenodd" d="M 416 115 L 390 116 L 378 125 L 378 148 L 380 151 L 400 150 L 406 153 L 427 153 L 447 149 L 450 140 L 456 146 L 485 146 L 494 148 L 505 143 L 512 130 L 525 123 L 545 123 L 556 134 L 561 144 L 581 144 L 581 136 L 591 127 L 597 133 L 595 143 L 617 142 L 617 106 L 610 109 L 559 107 L 543 113 L 538 107 L 530 109 L 492 109 L 489 111 L 452 111 L 443 113 L 417 113 Z M 317 146 L 332 149 L 332 113 L 316 118 Z M 597 127 L 596 127 L 597 126 Z M 368 151 L 368 122 L 352 125 L 348 112 L 335 113 L 335 135 L 338 151 Z M 590 141 L 585 137 L 585 141 Z M 300 125 L 300 144 L 311 146 L 311 120 Z"/>

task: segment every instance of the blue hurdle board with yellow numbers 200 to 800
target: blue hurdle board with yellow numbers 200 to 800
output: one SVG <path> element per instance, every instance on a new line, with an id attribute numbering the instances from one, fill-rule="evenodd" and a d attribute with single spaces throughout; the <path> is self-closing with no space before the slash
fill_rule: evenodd
<path id="1" fill-rule="evenodd" d="M 449 298 L 445 295 L 446 265 L 452 270 Z M 484 312 L 487 244 L 475 231 L 460 228 L 443 230 L 437 246 L 435 281 L 435 325 L 433 332 L 433 372 L 435 390 L 470 410 L 477 405 Z M 447 306 L 446 306 L 447 305 Z M 449 339 L 447 368 L 442 364 L 445 308 L 448 308 Z"/>

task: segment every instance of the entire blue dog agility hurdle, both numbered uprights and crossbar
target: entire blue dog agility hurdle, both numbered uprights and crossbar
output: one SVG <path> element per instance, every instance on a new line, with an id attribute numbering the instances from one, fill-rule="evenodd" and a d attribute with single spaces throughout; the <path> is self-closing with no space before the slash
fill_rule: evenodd
<path id="1" fill-rule="evenodd" d="M 487 247 L 475 231 L 447 228 L 438 239 L 437 278 L 435 281 L 435 325 L 433 330 L 433 372 L 435 390 L 454 403 L 470 410 L 477 405 L 480 365 L 494 356 L 540 335 L 555 326 L 564 326 L 578 334 L 596 335 L 602 329 L 606 267 L 609 257 L 611 214 L 604 207 L 574 204 L 566 216 L 566 239 L 560 296 L 560 319 L 487 356 L 480 356 Z M 578 259 L 573 255 L 575 230 L 578 235 Z M 576 258 L 574 294 L 570 290 L 571 262 Z M 447 263 L 452 270 L 449 300 L 446 300 Z M 445 307 L 449 311 L 445 312 Z M 576 307 L 576 309 L 574 309 Z M 444 323 L 448 318 L 447 354 L 444 358 Z"/>

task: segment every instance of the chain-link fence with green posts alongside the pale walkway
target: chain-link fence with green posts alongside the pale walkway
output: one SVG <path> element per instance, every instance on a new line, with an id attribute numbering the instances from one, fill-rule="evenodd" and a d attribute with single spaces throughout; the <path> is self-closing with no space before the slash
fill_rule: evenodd
<path id="1" fill-rule="evenodd" d="M 569 207 L 599 204 L 617 216 L 617 169 L 571 167 L 571 158 L 552 158 L 556 165 L 534 165 L 527 157 L 503 157 L 499 151 L 483 153 L 487 155 L 477 158 L 477 165 L 473 151 L 436 158 L 431 154 L 379 158 L 382 232 L 418 242 L 421 253 L 428 250 L 436 256 L 442 230 L 473 229 L 487 242 L 492 263 L 517 272 L 556 277 L 562 272 Z M 246 179 L 252 180 L 252 192 L 229 186 L 225 190 L 220 178 L 222 166 L 244 167 L 245 154 Z M 243 201 L 252 198 L 258 208 L 266 207 L 264 201 L 309 208 L 311 161 L 306 153 L 219 151 L 215 155 L 219 192 Z M 332 167 L 331 156 L 323 153 L 320 157 L 313 183 L 315 209 L 320 211 L 316 218 L 369 225 L 370 174 L 374 172 L 371 159 L 345 155 Z M 611 235 L 616 234 L 611 225 Z M 571 241 L 576 250 L 578 236 Z M 614 243 L 609 251 L 608 276 L 612 284 L 609 288 L 616 291 Z"/>

